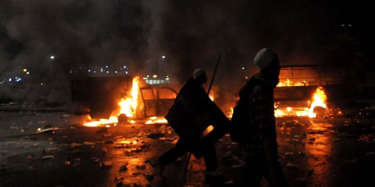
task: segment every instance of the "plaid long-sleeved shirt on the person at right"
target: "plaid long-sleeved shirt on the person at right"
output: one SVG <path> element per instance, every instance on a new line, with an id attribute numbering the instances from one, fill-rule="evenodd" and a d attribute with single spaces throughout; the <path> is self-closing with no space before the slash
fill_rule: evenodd
<path id="1" fill-rule="evenodd" d="M 263 139 L 274 139 L 276 143 L 276 121 L 274 116 L 274 88 L 266 84 L 257 85 L 249 94 L 249 114 L 256 132 L 249 136 L 248 143 L 241 144 L 242 159 L 263 150 Z M 277 150 L 276 150 L 277 152 Z"/>

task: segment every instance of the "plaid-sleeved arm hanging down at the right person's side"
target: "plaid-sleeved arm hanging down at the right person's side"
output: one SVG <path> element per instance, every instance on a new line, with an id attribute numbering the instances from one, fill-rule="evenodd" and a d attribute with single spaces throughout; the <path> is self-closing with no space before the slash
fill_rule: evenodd
<path id="1" fill-rule="evenodd" d="M 263 86 L 255 88 L 254 106 L 256 125 L 260 127 L 260 139 L 270 164 L 277 162 L 276 127 L 272 89 Z"/>

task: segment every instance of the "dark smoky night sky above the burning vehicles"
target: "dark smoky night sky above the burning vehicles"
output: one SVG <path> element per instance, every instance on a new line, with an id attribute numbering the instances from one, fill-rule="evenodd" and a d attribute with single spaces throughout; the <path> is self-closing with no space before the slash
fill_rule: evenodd
<path id="1" fill-rule="evenodd" d="M 199 66 L 212 73 L 222 53 L 215 81 L 231 89 L 240 67 L 256 71 L 253 55 L 265 46 L 282 64 L 348 64 L 350 58 L 372 71 L 369 7 L 333 0 L 2 0 L 0 78 L 27 68 L 35 79 L 51 75 L 51 90 L 60 90 L 68 87 L 72 66 L 126 64 L 144 75 L 166 55 L 163 66 L 183 82 Z"/>

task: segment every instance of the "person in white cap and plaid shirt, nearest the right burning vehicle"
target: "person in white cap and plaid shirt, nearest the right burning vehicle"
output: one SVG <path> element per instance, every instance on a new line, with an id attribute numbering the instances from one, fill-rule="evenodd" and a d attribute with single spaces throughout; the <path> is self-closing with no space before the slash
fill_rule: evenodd
<path id="1" fill-rule="evenodd" d="M 278 162 L 274 88 L 278 84 L 278 56 L 269 48 L 261 49 L 254 57 L 260 69 L 240 89 L 238 111 L 234 111 L 231 139 L 240 143 L 246 169 L 244 186 L 259 186 L 265 177 L 270 186 L 288 186 Z M 244 114 L 244 123 L 235 123 L 236 113 Z M 238 124 L 238 125 L 236 125 Z"/>

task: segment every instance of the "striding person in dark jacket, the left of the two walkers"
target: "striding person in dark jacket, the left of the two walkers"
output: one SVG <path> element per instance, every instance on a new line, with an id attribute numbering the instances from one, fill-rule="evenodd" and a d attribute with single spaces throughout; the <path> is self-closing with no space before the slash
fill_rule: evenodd
<path id="1" fill-rule="evenodd" d="M 215 143 L 228 130 L 219 128 L 217 125 L 228 127 L 230 121 L 206 94 L 202 87 L 206 82 L 206 72 L 203 69 L 196 69 L 193 77 L 188 78 L 178 92 L 174 105 L 165 116 L 180 139 L 174 148 L 158 157 L 156 161 L 158 175 L 163 175 L 166 165 L 192 152 L 194 157 L 204 158 L 206 182 L 210 184 L 213 181 L 222 180 L 222 175 L 217 172 Z M 203 136 L 202 132 L 208 125 L 213 125 L 214 130 L 207 136 Z"/>

